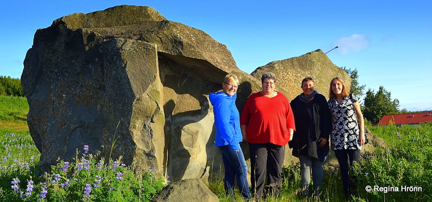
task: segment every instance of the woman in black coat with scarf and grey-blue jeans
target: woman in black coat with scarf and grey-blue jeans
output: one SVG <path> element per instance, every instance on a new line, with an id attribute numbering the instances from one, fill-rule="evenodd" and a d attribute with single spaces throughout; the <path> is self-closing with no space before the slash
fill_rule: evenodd
<path id="1" fill-rule="evenodd" d="M 327 100 L 315 90 L 314 79 L 303 79 L 301 88 L 303 93 L 290 103 L 296 121 L 296 131 L 289 146 L 293 148 L 293 156 L 300 161 L 300 195 L 308 195 L 312 170 L 313 194 L 319 196 L 323 177 L 322 162 L 329 152 L 331 114 Z"/>

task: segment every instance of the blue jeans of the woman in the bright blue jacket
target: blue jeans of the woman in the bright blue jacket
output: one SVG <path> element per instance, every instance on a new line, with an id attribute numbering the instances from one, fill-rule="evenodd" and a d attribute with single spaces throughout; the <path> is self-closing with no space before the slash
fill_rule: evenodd
<path id="1" fill-rule="evenodd" d="M 229 145 L 225 145 L 219 146 L 219 149 L 221 149 L 225 167 L 224 187 L 227 196 L 234 196 L 234 181 L 237 179 L 237 185 L 243 198 L 250 199 L 248 166 L 242 148 L 239 151 L 234 151 Z"/>

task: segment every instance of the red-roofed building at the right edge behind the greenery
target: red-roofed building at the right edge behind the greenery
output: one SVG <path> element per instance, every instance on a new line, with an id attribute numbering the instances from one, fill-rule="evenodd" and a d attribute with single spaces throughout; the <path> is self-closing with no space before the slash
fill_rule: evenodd
<path id="1" fill-rule="evenodd" d="M 432 122 L 432 112 L 385 115 L 377 125 L 388 125 L 389 121 L 392 121 L 395 125 L 415 125 L 423 122 Z"/>

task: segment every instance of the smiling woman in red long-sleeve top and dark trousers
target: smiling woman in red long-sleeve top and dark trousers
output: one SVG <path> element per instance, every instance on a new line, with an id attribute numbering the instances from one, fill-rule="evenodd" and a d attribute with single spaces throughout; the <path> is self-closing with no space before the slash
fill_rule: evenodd
<path id="1" fill-rule="evenodd" d="M 265 72 L 261 82 L 263 90 L 250 95 L 240 116 L 243 140 L 250 148 L 250 182 L 258 201 L 266 175 L 268 193 L 273 197 L 279 194 L 285 145 L 296 129 L 290 101 L 274 90 L 276 76 Z"/>

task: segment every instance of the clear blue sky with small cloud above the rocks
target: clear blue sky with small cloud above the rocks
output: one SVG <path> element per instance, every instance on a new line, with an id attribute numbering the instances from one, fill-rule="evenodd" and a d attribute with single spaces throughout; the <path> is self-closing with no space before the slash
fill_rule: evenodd
<path id="1" fill-rule="evenodd" d="M 21 77 L 37 29 L 122 4 L 205 31 L 247 73 L 339 45 L 327 56 L 357 69 L 366 90 L 384 86 L 401 108 L 432 110 L 431 0 L 9 0 L 0 7 L 0 75 Z"/>

